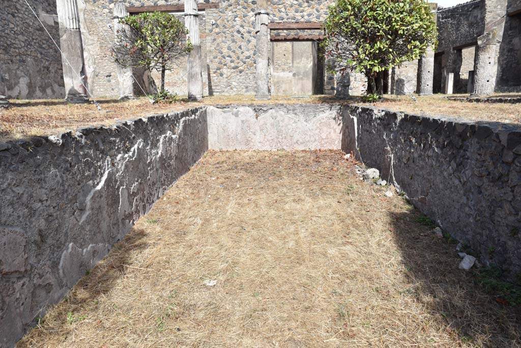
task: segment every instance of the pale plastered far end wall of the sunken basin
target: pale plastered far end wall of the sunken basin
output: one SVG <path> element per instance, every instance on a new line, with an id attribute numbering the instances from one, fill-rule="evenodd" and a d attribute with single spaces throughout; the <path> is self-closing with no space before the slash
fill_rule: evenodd
<path id="1" fill-rule="evenodd" d="M 207 108 L 213 150 L 340 149 L 338 109 L 317 105 Z"/>

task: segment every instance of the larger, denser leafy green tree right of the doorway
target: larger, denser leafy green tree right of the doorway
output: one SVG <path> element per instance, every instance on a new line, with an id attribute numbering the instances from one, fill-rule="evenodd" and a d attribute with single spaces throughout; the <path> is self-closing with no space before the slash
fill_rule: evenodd
<path id="1" fill-rule="evenodd" d="M 419 59 L 437 41 L 425 0 L 337 0 L 322 42 L 331 72 L 363 72 L 367 95 L 378 94 L 383 71 Z"/>

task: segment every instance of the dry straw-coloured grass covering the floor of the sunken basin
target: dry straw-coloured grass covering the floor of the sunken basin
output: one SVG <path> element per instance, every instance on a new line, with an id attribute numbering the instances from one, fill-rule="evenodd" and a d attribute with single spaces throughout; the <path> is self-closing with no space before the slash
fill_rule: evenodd
<path id="1" fill-rule="evenodd" d="M 519 346 L 516 309 L 353 166 L 208 152 L 19 347 Z"/>

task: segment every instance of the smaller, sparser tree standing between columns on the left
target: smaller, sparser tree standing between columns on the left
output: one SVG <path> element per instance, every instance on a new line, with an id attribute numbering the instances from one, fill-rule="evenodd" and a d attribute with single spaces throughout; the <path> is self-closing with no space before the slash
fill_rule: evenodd
<path id="1" fill-rule="evenodd" d="M 179 19 L 168 13 L 142 13 L 120 19 L 126 29 L 116 33 L 112 54 L 123 67 L 146 67 L 161 73 L 161 90 L 165 93 L 165 72 L 176 60 L 192 51 L 188 30 Z"/>

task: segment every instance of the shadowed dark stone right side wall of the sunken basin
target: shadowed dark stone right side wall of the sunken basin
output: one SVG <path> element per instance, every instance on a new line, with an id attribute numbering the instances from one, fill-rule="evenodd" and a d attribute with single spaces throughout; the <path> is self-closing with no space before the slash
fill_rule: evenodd
<path id="1" fill-rule="evenodd" d="M 521 128 L 343 109 L 342 150 L 406 193 L 485 265 L 521 271 Z"/>

